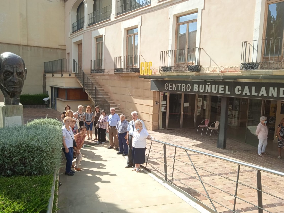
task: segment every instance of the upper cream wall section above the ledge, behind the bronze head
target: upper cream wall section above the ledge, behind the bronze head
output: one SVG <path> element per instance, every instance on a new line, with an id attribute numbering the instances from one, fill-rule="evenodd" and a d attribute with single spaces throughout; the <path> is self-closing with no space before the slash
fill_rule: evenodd
<path id="1" fill-rule="evenodd" d="M 64 26 L 64 0 L 1 1 L 0 42 L 64 49 Z"/>

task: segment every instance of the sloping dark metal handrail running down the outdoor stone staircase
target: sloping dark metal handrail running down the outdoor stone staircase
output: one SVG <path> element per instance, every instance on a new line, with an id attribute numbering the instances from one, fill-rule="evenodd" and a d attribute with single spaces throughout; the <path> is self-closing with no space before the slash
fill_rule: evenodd
<path id="1" fill-rule="evenodd" d="M 105 109 L 107 112 L 110 108 L 110 103 L 103 96 L 101 91 L 95 86 L 92 80 L 85 74 L 79 64 L 74 60 L 74 72 L 75 76 L 82 82 L 83 89 L 87 89 L 91 94 L 91 98 L 94 99 L 95 104 L 99 105 L 101 109 Z"/>

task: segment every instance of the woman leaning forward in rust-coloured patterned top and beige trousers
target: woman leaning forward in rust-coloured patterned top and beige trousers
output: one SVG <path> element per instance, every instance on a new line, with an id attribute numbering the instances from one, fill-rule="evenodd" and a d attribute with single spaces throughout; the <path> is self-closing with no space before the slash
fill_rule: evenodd
<path id="1" fill-rule="evenodd" d="M 81 126 L 80 133 L 77 133 L 76 135 L 74 135 L 74 139 L 77 143 L 77 147 L 73 147 L 74 155 L 76 157 L 76 162 L 72 163 L 72 167 L 74 167 L 74 170 L 76 171 L 81 171 L 81 169 L 79 168 L 79 163 L 82 161 L 82 154 L 80 150 L 83 147 L 83 144 L 86 138 L 86 133 L 87 133 L 87 127 Z"/>

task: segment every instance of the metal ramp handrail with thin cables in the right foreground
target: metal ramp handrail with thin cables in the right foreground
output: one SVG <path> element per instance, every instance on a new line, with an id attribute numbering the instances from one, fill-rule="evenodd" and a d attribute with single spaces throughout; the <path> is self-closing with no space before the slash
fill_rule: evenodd
<path id="1" fill-rule="evenodd" d="M 157 151 L 151 150 L 153 141 L 154 141 L 154 142 L 157 142 L 157 143 L 161 143 L 161 144 L 164 145 L 164 146 L 163 146 L 163 150 L 164 150 L 163 153 L 159 153 L 159 152 L 157 152 Z M 174 157 L 168 156 L 168 155 L 166 154 L 166 145 L 175 148 Z M 177 151 L 177 149 L 183 149 L 183 150 L 186 152 L 186 154 L 187 154 L 187 156 L 188 156 L 188 158 L 189 158 L 189 160 L 190 160 L 190 163 L 187 163 L 187 162 L 184 162 L 184 161 L 181 161 L 181 160 L 176 159 L 176 151 Z M 167 143 L 167 142 L 163 142 L 163 141 L 158 141 L 158 140 L 155 140 L 155 139 L 154 139 L 154 140 L 151 140 L 151 145 L 150 145 L 150 147 L 149 147 L 148 150 L 149 150 L 149 153 L 147 154 L 148 157 L 147 157 L 147 160 L 146 160 L 145 168 L 147 168 L 148 159 L 149 159 L 149 156 L 150 156 L 150 151 L 152 151 L 152 152 L 154 152 L 154 153 L 158 153 L 158 154 L 163 155 L 163 156 L 164 156 L 164 161 L 159 160 L 159 159 L 154 158 L 154 157 L 151 157 L 151 158 L 153 158 L 154 160 L 156 160 L 156 161 L 161 162 L 161 163 L 164 164 L 164 171 L 162 171 L 162 170 L 160 170 L 160 169 L 158 169 L 158 168 L 155 168 L 155 170 L 158 170 L 158 171 L 164 173 L 164 179 L 165 179 L 166 181 L 168 181 L 168 176 L 170 176 L 170 177 L 172 178 L 171 184 L 173 184 L 174 170 L 176 170 L 176 171 L 178 171 L 178 172 L 181 172 L 181 173 L 183 173 L 183 174 L 185 174 L 185 175 L 188 175 L 188 174 L 184 173 L 183 171 L 181 171 L 180 169 L 175 168 L 175 162 L 176 162 L 176 161 L 182 162 L 183 164 L 187 164 L 188 166 L 192 166 L 192 167 L 195 169 L 195 172 L 196 172 L 198 178 L 193 177 L 193 176 L 190 176 L 190 175 L 188 175 L 188 176 L 190 176 L 190 177 L 193 178 L 193 179 L 196 179 L 196 180 L 200 181 L 200 183 L 201 183 L 202 186 L 203 186 L 204 191 L 206 192 L 206 195 L 204 195 L 203 193 L 201 193 L 201 192 L 199 192 L 199 191 L 196 191 L 195 189 L 193 189 L 193 190 L 196 191 L 196 192 L 198 192 L 199 194 L 203 195 L 204 197 L 208 198 L 208 199 L 210 200 L 212 206 L 213 206 L 214 211 L 216 211 L 216 208 L 215 208 L 213 202 L 216 202 L 216 203 L 220 204 L 221 206 L 224 206 L 224 205 L 221 204 L 220 202 L 218 202 L 218 201 L 216 201 L 216 200 L 210 198 L 210 195 L 208 194 L 208 192 L 207 192 L 206 187 L 205 187 L 204 184 L 206 184 L 206 185 L 208 185 L 208 186 L 210 186 L 210 187 L 213 187 L 213 188 L 215 188 L 215 189 L 218 189 L 218 190 L 220 190 L 220 191 L 222 191 L 222 192 L 224 192 L 224 193 L 226 193 L 226 194 L 228 194 L 228 195 L 230 195 L 230 196 L 233 196 L 233 197 L 234 197 L 233 209 L 229 209 L 227 206 L 224 206 L 225 208 L 227 208 L 228 210 L 230 210 L 230 211 L 232 211 L 232 212 L 236 212 L 236 210 L 235 210 L 236 199 L 240 199 L 240 200 L 242 200 L 242 201 L 245 201 L 245 202 L 249 203 L 250 205 L 254 206 L 255 208 L 258 208 L 258 212 L 260 212 L 260 213 L 262 213 L 263 211 L 270 212 L 270 211 L 268 211 L 268 210 L 266 210 L 266 209 L 263 208 L 263 204 L 262 204 L 262 193 L 265 193 L 265 194 L 267 194 L 267 195 L 273 196 L 273 197 L 275 197 L 275 198 L 278 198 L 278 199 L 281 199 L 281 200 L 284 201 L 284 198 L 281 198 L 281 197 L 278 197 L 278 196 L 276 196 L 276 195 L 272 195 L 271 193 L 268 193 L 268 192 L 266 192 L 266 191 L 263 191 L 263 190 L 262 190 L 262 182 L 261 182 L 261 172 L 267 172 L 267 173 L 270 173 L 270 174 L 273 174 L 273 175 L 277 175 L 277 176 L 280 176 L 280 177 L 283 177 L 283 178 L 284 178 L 284 173 L 283 173 L 283 172 L 278 172 L 278 171 L 271 170 L 271 169 L 268 169 L 268 168 L 264 168 L 264 167 L 261 167 L 261 166 L 256 166 L 256 165 L 253 165 L 253 164 L 249 164 L 249 163 L 241 162 L 241 161 L 238 161 L 238 160 L 233 160 L 233 159 L 229 159 L 229 158 L 217 156 L 217 155 L 214 155 L 214 154 L 204 153 L 204 152 L 201 152 L 201 151 L 197 151 L 197 150 L 194 150 L 194 149 L 189 149 L 189 148 L 186 148 L 186 147 L 182 147 L 182 146 L 179 146 L 179 145 L 174 145 L 174 144 Z M 226 162 L 230 162 L 230 163 L 233 163 L 233 164 L 237 164 L 237 165 L 238 165 L 237 180 L 233 180 L 233 179 L 231 179 L 231 178 L 224 177 L 224 176 L 222 176 L 222 175 L 220 175 L 220 174 L 216 174 L 216 173 L 214 173 L 214 172 L 208 171 L 208 170 L 206 170 L 206 169 L 204 169 L 204 168 L 201 168 L 201 167 L 199 167 L 199 166 L 195 166 L 194 163 L 193 163 L 193 161 L 192 161 L 192 159 L 191 159 L 191 157 L 190 157 L 189 154 L 188 154 L 188 151 L 193 152 L 193 153 L 197 153 L 197 154 L 202 154 L 202 155 L 204 155 L 204 156 L 212 157 L 212 158 L 215 158 L 215 159 L 223 160 L 223 161 L 226 161 Z M 167 158 L 173 159 L 173 166 L 167 164 Z M 153 165 L 152 165 L 152 166 L 153 166 Z M 248 168 L 257 170 L 257 174 L 256 174 L 257 187 L 256 187 L 256 188 L 255 188 L 255 187 L 252 187 L 252 186 L 250 186 L 250 185 L 248 185 L 248 184 L 239 182 L 240 166 L 245 166 L 245 167 L 248 167 Z M 167 167 L 172 168 L 172 174 L 169 174 L 169 173 L 167 172 Z M 216 187 L 216 186 L 214 186 L 214 185 L 212 185 L 212 184 L 210 184 L 210 183 L 207 183 L 206 181 L 203 181 L 203 180 L 201 179 L 201 177 L 199 176 L 199 173 L 197 172 L 196 168 L 198 168 L 199 170 L 203 170 L 203 171 L 205 171 L 205 172 L 214 174 L 214 175 L 216 175 L 216 176 L 225 178 L 225 179 L 227 179 L 227 180 L 229 180 L 229 181 L 233 181 L 234 183 L 236 183 L 235 194 L 226 192 L 226 191 L 224 191 L 224 190 L 222 190 L 222 189 L 219 189 L 218 187 Z M 147 169 L 148 169 L 148 168 L 147 168 Z M 176 181 L 178 181 L 178 180 L 176 180 Z M 180 181 L 179 181 L 179 182 L 180 182 Z M 181 183 L 181 182 L 180 182 L 180 183 Z M 184 183 L 182 183 L 182 184 L 184 184 Z M 253 203 L 251 203 L 251 202 L 249 202 L 249 201 L 246 201 L 245 199 L 243 199 L 243 198 L 237 196 L 238 185 L 239 185 L 239 184 L 241 184 L 241 185 L 243 185 L 243 186 L 246 186 L 246 187 L 249 187 L 249 188 L 254 189 L 254 190 L 257 191 L 257 194 L 258 194 L 258 205 L 255 205 L 255 204 L 253 204 Z M 185 185 L 185 184 L 184 184 L 184 185 Z"/>

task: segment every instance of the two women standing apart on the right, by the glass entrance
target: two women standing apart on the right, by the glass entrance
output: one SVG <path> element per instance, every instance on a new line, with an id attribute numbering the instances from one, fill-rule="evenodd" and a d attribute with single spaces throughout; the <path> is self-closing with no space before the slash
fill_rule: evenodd
<path id="1" fill-rule="evenodd" d="M 268 153 L 265 152 L 267 145 L 267 135 L 268 135 L 268 127 L 266 126 L 267 117 L 261 116 L 260 123 L 256 127 L 256 135 L 258 138 L 258 152 L 257 154 L 260 157 L 264 157 Z M 284 148 L 284 118 L 281 119 L 280 124 L 277 127 L 277 137 L 278 137 L 278 159 L 281 159 L 281 151 Z"/>

